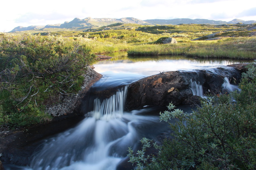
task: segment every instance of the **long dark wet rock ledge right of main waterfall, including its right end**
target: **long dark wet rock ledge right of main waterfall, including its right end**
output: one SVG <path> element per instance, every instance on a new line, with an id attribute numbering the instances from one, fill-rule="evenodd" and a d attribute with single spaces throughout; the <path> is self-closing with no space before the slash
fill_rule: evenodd
<path id="1" fill-rule="evenodd" d="M 241 78 L 241 71 L 235 68 L 216 68 L 191 72 L 169 71 L 142 78 L 128 87 L 125 108 L 138 109 L 145 106 L 167 106 L 198 102 L 192 97 L 191 82 L 202 86 L 204 93 L 218 93 L 222 91 L 224 78 L 229 81 Z"/>

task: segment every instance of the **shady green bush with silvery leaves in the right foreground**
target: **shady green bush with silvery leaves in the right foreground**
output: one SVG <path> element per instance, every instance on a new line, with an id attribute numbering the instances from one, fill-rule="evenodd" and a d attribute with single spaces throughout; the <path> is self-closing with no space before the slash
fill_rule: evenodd
<path id="1" fill-rule="evenodd" d="M 160 120 L 177 118 L 172 137 L 151 160 L 139 153 L 134 161 L 129 149 L 130 161 L 140 169 L 256 169 L 255 70 L 243 74 L 241 92 L 204 99 L 192 114 L 170 104 Z"/>

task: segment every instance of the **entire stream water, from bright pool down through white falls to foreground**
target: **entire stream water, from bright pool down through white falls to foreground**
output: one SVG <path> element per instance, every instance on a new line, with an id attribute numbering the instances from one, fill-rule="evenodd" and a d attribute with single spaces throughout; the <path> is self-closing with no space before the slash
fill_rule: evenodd
<path id="1" fill-rule="evenodd" d="M 92 89 L 104 90 L 122 85 L 107 99 L 92 99 L 93 109 L 75 128 L 50 139 L 32 155 L 28 167 L 6 166 L 6 169 L 23 170 L 115 170 L 125 159 L 128 147 L 138 149 L 139 140 L 148 137 L 157 141 L 168 131 L 167 124 L 159 122 L 158 113 L 163 108 L 144 108 L 124 111 L 127 85 L 140 78 L 173 70 L 211 69 L 216 66 L 238 63 L 236 61 L 198 61 L 184 57 L 134 59 L 114 57 L 94 65 L 103 78 Z M 194 95 L 203 96 L 199 82 L 190 82 Z M 232 91 L 228 78 L 223 89 Z M 187 110 L 186 110 L 187 111 Z"/>

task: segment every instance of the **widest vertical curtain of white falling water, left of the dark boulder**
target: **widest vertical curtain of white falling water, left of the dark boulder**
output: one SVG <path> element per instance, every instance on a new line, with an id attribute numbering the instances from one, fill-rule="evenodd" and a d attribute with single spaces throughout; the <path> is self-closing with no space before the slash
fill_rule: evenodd
<path id="1" fill-rule="evenodd" d="M 127 93 L 127 85 L 118 90 L 116 94 L 100 102 L 99 98 L 94 99 L 93 111 L 89 114 L 96 119 L 109 120 L 113 117 L 121 117 L 124 112 L 124 103 Z"/>

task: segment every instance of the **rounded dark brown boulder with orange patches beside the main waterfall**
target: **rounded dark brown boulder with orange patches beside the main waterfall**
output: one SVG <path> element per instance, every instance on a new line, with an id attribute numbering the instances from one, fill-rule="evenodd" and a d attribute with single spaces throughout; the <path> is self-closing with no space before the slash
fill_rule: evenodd
<path id="1" fill-rule="evenodd" d="M 126 109 L 143 106 L 174 105 L 192 96 L 188 79 L 180 71 L 170 71 L 146 77 L 128 87 Z"/>

